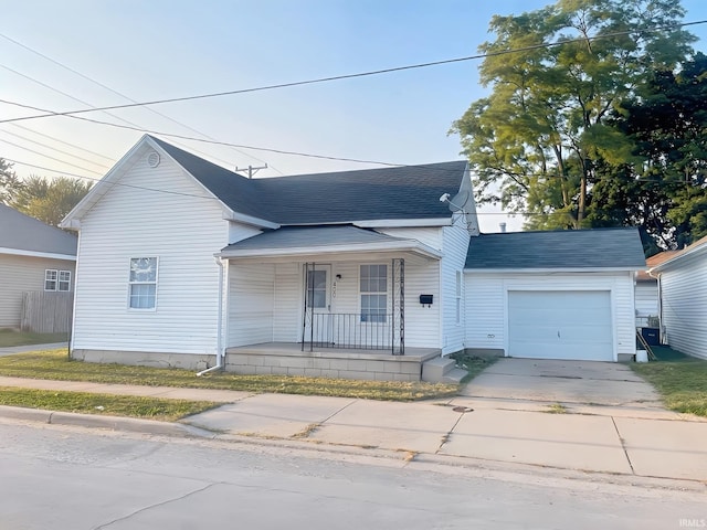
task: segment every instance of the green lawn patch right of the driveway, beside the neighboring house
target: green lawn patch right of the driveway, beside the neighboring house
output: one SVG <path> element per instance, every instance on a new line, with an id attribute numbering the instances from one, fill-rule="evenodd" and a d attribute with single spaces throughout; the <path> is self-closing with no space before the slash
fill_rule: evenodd
<path id="1" fill-rule="evenodd" d="M 652 383 L 672 411 L 707 416 L 707 361 L 653 347 L 656 361 L 631 368 Z"/>

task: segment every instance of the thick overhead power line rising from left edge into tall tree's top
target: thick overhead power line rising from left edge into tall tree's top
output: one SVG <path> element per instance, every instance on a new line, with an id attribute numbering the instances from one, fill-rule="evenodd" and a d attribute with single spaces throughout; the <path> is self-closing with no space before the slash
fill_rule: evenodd
<path id="1" fill-rule="evenodd" d="M 666 26 L 656 26 L 653 29 L 644 29 L 644 30 L 640 30 L 640 32 L 642 33 L 656 33 L 659 31 L 665 31 L 665 30 L 675 30 L 678 28 L 685 28 L 688 25 L 697 25 L 697 24 L 704 24 L 707 23 L 707 20 L 698 20 L 698 21 L 694 21 L 694 22 L 683 22 L 679 24 L 673 24 L 673 25 L 666 25 Z M 462 62 L 467 62 L 467 61 L 474 61 L 477 59 L 486 59 L 486 57 L 495 57 L 495 56 L 500 56 L 500 55 L 509 55 L 513 53 L 518 53 L 518 52 L 529 52 L 532 50 L 540 50 L 540 49 L 548 49 L 548 47 L 555 47 L 555 46 L 559 46 L 559 45 L 564 45 L 564 44 L 571 44 L 571 43 L 583 43 L 589 41 L 597 41 L 597 40 L 601 40 L 601 39 L 610 39 L 613 36 L 625 36 L 625 35 L 630 35 L 632 33 L 635 33 L 635 31 L 631 31 L 631 30 L 626 30 L 626 31 L 616 31 L 616 32 L 612 32 L 612 33 L 605 33 L 602 35 L 594 35 L 591 38 L 578 38 L 578 39 L 568 39 L 568 40 L 562 40 L 562 41 L 556 41 L 556 42 L 549 42 L 549 43 L 540 43 L 540 44 L 532 44 L 529 46 L 524 46 L 524 47 L 516 47 L 516 49 L 511 49 L 511 50 L 499 50 L 496 52 L 487 52 L 487 53 L 481 53 L 481 54 L 476 54 L 476 55 L 467 55 L 464 57 L 455 57 L 455 59 L 445 59 L 442 61 L 431 61 L 428 63 L 418 63 L 418 64 L 409 64 L 405 66 L 394 66 L 394 67 L 390 67 L 390 68 L 382 68 L 382 70 L 373 70 L 373 71 L 368 71 L 368 72 L 358 72 L 355 74 L 342 74 L 342 75 L 334 75 L 334 76 L 328 76 L 328 77 L 317 77 L 317 78 L 313 78 L 313 80 L 305 80 L 305 81 L 295 81 L 295 82 L 291 82 L 291 83 L 277 83 L 274 85 L 264 85 L 264 86 L 256 86 L 256 87 L 251 87 L 251 88 L 240 88 L 240 89 L 235 89 L 235 91 L 224 91 L 224 92 L 214 92 L 214 93 L 209 93 L 209 94 L 199 94 L 199 95 L 194 95 L 194 96 L 183 96 L 183 97 L 171 97 L 171 98 L 163 98 L 163 99 L 152 99 L 152 100 L 148 100 L 148 102 L 141 102 L 141 103 L 129 103 L 129 104 L 123 104 L 123 105 L 109 105 L 106 107 L 97 107 L 97 108 L 89 108 L 89 109 L 78 109 L 78 110 L 66 110 L 66 112 L 62 112 L 62 113 L 48 113 L 48 114 L 42 114 L 42 115 L 34 115 L 34 116 L 22 116 L 22 117 L 17 117 L 17 118 L 9 118 L 9 119 L 3 119 L 0 120 L 0 124 L 6 124 L 6 123 L 11 123 L 11 121 L 22 121 L 25 119 L 36 119 L 36 118 L 46 118 L 46 117 L 52 117 L 52 116 L 67 116 L 67 115 L 76 115 L 76 114 L 85 114 L 85 113 L 94 113 L 94 112 L 104 112 L 104 110 L 115 110 L 115 109 L 119 109 L 119 108 L 131 108 L 131 107 L 143 107 L 143 106 L 149 106 L 149 105 L 162 105 L 166 103 L 177 103 L 177 102 L 190 102 L 190 100 L 196 100 L 196 99 L 207 99 L 207 98 L 212 98 L 212 97 L 222 97 L 222 96 L 233 96 L 236 94 L 249 94 L 249 93 L 253 93 L 253 92 L 264 92 L 264 91 L 274 91 L 274 89 L 278 89 L 278 88 L 292 88 L 295 86 L 305 86 L 305 85 L 314 85 L 314 84 L 318 84 L 318 83 L 328 83 L 328 82 L 333 82 L 333 81 L 342 81 L 342 80 L 351 80 L 351 78 L 356 78 L 356 77 L 370 77 L 373 75 L 381 75 L 381 74 L 390 74 L 390 73 L 394 73 L 394 72 L 404 72 L 408 70 L 418 70 L 418 68 L 426 68 L 426 67 L 431 67 L 431 66 L 441 66 L 444 64 L 453 64 L 453 63 L 462 63 Z"/>

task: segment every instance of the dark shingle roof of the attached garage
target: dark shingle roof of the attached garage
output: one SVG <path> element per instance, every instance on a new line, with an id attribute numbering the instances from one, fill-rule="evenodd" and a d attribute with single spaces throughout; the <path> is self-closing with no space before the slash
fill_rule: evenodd
<path id="1" fill-rule="evenodd" d="M 635 271 L 645 258 L 637 229 L 508 232 L 472 237 L 465 268 Z"/>

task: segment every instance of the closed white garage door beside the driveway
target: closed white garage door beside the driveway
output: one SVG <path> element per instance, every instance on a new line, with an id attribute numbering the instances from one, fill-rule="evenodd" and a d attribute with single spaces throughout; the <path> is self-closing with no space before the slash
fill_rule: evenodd
<path id="1" fill-rule="evenodd" d="M 508 354 L 613 361 L 608 290 L 509 290 Z"/>

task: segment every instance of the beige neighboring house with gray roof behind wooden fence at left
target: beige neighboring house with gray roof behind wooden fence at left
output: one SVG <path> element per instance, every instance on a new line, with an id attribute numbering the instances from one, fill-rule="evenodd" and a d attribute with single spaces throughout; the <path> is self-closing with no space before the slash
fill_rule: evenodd
<path id="1" fill-rule="evenodd" d="M 71 293 L 76 236 L 0 204 L 0 328 L 19 328 L 24 293 Z"/>

